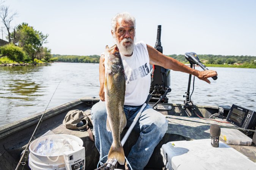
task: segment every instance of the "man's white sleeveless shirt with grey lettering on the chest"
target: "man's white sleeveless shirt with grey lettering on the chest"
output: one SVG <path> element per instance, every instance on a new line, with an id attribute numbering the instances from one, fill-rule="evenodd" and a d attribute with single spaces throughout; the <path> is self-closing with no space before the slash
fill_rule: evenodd
<path id="1" fill-rule="evenodd" d="M 126 57 L 121 54 L 121 58 L 126 78 L 124 105 L 140 106 L 148 97 L 151 83 L 146 43 L 135 43 L 132 56 Z"/>

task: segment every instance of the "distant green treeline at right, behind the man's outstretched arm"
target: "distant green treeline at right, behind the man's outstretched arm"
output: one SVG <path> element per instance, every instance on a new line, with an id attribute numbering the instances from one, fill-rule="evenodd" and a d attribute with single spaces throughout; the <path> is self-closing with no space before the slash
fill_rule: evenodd
<path id="1" fill-rule="evenodd" d="M 179 60 L 182 63 L 189 63 L 185 59 L 184 55 L 168 55 L 173 57 L 176 60 Z M 208 66 L 225 66 L 229 65 L 230 67 L 247 67 L 247 68 L 256 68 L 256 56 L 222 56 L 222 55 L 200 55 L 198 57 L 202 63 Z M 228 66 L 227 66 L 228 67 Z"/>

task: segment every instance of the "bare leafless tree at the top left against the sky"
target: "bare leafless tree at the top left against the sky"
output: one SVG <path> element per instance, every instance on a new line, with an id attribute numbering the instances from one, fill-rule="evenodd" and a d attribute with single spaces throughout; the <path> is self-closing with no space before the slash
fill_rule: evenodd
<path id="1" fill-rule="evenodd" d="M 10 23 L 16 15 L 17 15 L 17 12 L 10 14 L 9 6 L 5 6 L 5 5 L 0 6 L 0 17 L 7 29 L 9 42 L 11 42 Z"/>

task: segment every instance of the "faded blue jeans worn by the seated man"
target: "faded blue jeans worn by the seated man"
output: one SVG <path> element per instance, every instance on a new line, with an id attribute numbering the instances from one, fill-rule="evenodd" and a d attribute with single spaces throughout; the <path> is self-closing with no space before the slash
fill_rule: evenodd
<path id="1" fill-rule="evenodd" d="M 140 111 L 141 106 L 124 105 L 127 127 L 130 127 L 133 119 Z M 108 151 L 113 142 L 111 132 L 106 129 L 107 111 L 105 102 L 99 101 L 91 109 L 91 119 L 93 121 L 93 130 L 95 145 L 100 153 L 100 159 L 108 155 Z M 161 113 L 146 105 L 141 116 L 133 129 L 140 131 L 140 136 L 135 145 L 133 145 L 127 159 L 133 170 L 143 170 L 148 164 L 154 148 L 163 138 L 168 128 L 168 121 Z M 107 157 L 103 159 L 103 163 Z"/>

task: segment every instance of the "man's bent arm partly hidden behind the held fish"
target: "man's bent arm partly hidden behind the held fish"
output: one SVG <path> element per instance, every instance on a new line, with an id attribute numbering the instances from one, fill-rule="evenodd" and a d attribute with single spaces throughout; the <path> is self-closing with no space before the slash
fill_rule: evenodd
<path id="1" fill-rule="evenodd" d="M 105 92 L 104 92 L 104 81 L 105 81 L 105 66 L 104 66 L 105 56 L 101 54 L 99 61 L 99 80 L 100 80 L 100 91 L 99 96 L 102 101 L 105 101 Z"/>

